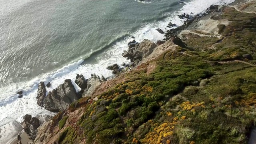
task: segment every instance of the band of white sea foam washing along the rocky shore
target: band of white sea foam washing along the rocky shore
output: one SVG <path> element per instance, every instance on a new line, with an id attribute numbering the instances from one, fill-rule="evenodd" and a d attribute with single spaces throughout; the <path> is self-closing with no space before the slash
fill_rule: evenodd
<path id="1" fill-rule="evenodd" d="M 135 37 L 137 42 L 141 42 L 143 39 L 149 39 L 154 42 L 157 40 L 161 40 L 164 38 L 163 34 L 160 34 L 156 31 L 156 28 L 161 28 L 165 31 L 168 23 L 171 22 L 180 26 L 183 24 L 184 20 L 178 18 L 178 14 L 190 13 L 193 14 L 200 13 L 208 8 L 211 4 L 228 4 L 234 2 L 234 0 L 193 0 L 191 2 L 186 2 L 182 9 L 178 12 L 172 12 L 168 14 L 168 18 L 164 22 L 157 22 L 154 24 L 146 24 L 137 32 L 131 34 Z M 110 70 L 107 70 L 106 67 L 110 64 L 121 64 L 122 62 L 128 62 L 125 58 L 122 57 L 123 50 L 128 48 L 127 43 L 132 40 L 131 38 L 125 38 L 122 42 L 117 42 L 112 48 L 103 52 L 98 56 L 96 64 L 84 64 L 80 65 L 83 60 L 79 60 L 78 62 L 74 62 L 72 64 L 68 64 L 55 72 L 50 72 L 48 74 L 41 74 L 40 76 L 27 81 L 20 82 L 17 84 L 12 84 L 10 86 L 0 88 L 0 126 L 8 124 L 9 122 L 13 122 L 15 120 L 21 122 L 22 117 L 25 114 L 31 114 L 32 116 L 36 116 L 38 114 L 53 114 L 41 108 L 36 104 L 36 94 L 37 94 L 37 84 L 40 81 L 44 81 L 45 84 L 47 82 L 51 82 L 50 88 L 46 88 L 47 92 L 56 88 L 59 84 L 62 84 L 65 79 L 71 79 L 74 84 L 74 79 L 76 74 L 83 74 L 86 78 L 90 77 L 90 74 L 95 73 L 96 75 L 104 75 L 105 77 L 112 76 Z M 80 88 L 74 84 L 76 90 L 80 90 Z M 23 98 L 18 98 L 16 92 L 19 90 L 23 91 Z M 26 102 L 28 104 L 26 104 Z M 2 133 L 2 138 L 6 138 L 3 135 L 7 133 Z M 0 137 L 0 142 L 2 139 Z"/>

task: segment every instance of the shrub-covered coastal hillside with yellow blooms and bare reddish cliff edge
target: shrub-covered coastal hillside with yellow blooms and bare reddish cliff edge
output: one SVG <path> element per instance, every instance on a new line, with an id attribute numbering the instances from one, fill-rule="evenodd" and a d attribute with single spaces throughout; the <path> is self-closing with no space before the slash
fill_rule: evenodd
<path id="1" fill-rule="evenodd" d="M 253 6 L 225 6 L 181 32 L 182 45 L 157 46 L 41 126 L 34 143 L 247 143 L 256 116 Z"/>

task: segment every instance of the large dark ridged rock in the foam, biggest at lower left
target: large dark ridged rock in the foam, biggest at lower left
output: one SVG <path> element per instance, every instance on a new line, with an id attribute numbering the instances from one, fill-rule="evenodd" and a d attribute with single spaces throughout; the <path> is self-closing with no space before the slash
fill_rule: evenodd
<path id="1" fill-rule="evenodd" d="M 64 84 L 60 84 L 58 88 L 48 93 L 43 100 L 43 104 L 46 110 L 51 112 L 61 112 L 78 99 L 80 99 L 80 97 L 76 93 L 76 89 L 71 80 L 66 79 Z"/>

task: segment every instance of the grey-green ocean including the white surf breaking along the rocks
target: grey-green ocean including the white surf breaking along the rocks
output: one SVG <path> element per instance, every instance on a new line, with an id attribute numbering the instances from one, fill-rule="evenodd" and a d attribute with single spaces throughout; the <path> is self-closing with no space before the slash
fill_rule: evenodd
<path id="1" fill-rule="evenodd" d="M 128 62 L 122 52 L 132 36 L 156 42 L 164 38 L 156 28 L 183 24 L 178 14 L 233 1 L 0 0 L 0 144 L 16 136 L 25 114 L 53 114 L 36 104 L 40 81 L 50 91 L 76 74 L 110 77 L 107 66 Z"/>

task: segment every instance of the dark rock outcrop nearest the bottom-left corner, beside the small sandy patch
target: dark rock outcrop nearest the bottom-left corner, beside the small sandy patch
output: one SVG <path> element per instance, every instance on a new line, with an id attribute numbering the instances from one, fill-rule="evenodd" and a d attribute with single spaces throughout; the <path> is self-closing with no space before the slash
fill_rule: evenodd
<path id="1" fill-rule="evenodd" d="M 28 134 L 28 136 L 30 136 L 31 140 L 34 140 L 36 138 L 37 135 L 37 128 L 40 126 L 40 121 L 38 120 L 38 118 L 36 117 L 32 117 L 29 114 L 26 114 L 24 117 L 24 131 L 26 132 L 26 134 Z"/>

